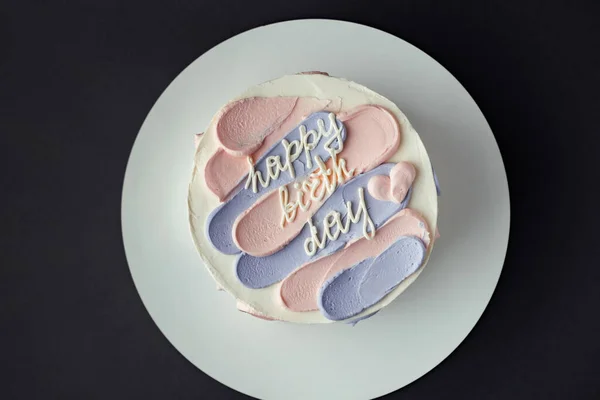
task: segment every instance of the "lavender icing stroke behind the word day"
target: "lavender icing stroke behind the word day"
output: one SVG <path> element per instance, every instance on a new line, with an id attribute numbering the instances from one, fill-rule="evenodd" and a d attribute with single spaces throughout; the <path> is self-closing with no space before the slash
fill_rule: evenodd
<path id="1" fill-rule="evenodd" d="M 367 184 L 372 176 L 389 175 L 394 165 L 396 164 L 382 164 L 369 172 L 356 176 L 333 192 L 331 197 L 325 201 L 312 217 L 313 224 L 317 228 L 319 235 L 322 235 L 323 232 L 323 218 L 329 212 L 338 211 L 342 214 L 342 221 L 345 223 L 347 218 L 346 202 L 352 202 L 353 211 L 357 209 L 359 188 L 364 189 L 365 204 L 375 228 L 379 228 L 398 211 L 405 208 L 410 201 L 412 189 L 409 190 L 401 203 L 377 200 L 367 190 Z M 246 287 L 252 289 L 267 287 L 281 281 L 302 264 L 332 254 L 343 248 L 346 243 L 362 236 L 363 219 L 361 218 L 358 223 L 350 224 L 350 229 L 347 233 L 341 233 L 337 240 L 329 241 L 314 256 L 309 256 L 304 250 L 304 241 L 310 237 L 310 228 L 308 224 L 305 224 L 298 236 L 277 253 L 266 257 L 254 257 L 242 253 L 235 263 L 236 273 L 238 279 Z"/>

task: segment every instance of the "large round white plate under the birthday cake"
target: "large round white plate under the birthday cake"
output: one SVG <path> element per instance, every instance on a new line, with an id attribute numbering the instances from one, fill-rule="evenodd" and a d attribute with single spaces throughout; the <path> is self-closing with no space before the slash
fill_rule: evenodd
<path id="1" fill-rule="evenodd" d="M 320 70 L 394 101 L 442 185 L 442 234 L 419 279 L 368 321 L 303 326 L 238 312 L 215 290 L 188 227 L 193 134 L 246 87 Z M 427 373 L 467 336 L 498 281 L 509 232 L 498 146 L 460 83 L 412 45 L 362 25 L 302 20 L 235 36 L 187 67 L 158 99 L 131 152 L 123 241 L 148 312 L 188 360 L 262 399 L 369 399 Z"/>

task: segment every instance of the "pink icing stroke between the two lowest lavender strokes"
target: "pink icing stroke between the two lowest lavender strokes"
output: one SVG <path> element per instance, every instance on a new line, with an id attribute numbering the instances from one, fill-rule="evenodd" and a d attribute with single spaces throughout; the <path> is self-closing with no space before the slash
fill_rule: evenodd
<path id="1" fill-rule="evenodd" d="M 416 236 L 426 246 L 430 244 L 429 227 L 423 217 L 408 208 L 401 210 L 377 230 L 372 240 L 361 238 L 343 250 L 305 264 L 290 274 L 280 288 L 283 303 L 292 311 L 318 310 L 318 292 L 326 280 L 360 261 L 376 257 L 400 236 Z"/>

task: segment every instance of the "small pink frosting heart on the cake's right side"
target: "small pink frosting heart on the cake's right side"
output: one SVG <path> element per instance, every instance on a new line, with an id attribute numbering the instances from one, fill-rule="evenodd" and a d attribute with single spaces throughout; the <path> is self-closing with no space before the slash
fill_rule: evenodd
<path id="1" fill-rule="evenodd" d="M 408 162 L 399 162 L 392 168 L 390 175 L 377 175 L 369 179 L 367 189 L 377 200 L 401 203 L 412 185 L 417 171 Z"/>

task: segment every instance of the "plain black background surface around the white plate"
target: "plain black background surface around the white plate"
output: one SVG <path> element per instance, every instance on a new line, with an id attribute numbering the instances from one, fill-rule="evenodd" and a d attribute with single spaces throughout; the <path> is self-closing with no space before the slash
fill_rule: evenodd
<path id="1" fill-rule="evenodd" d="M 597 1 L 0 6 L 1 398 L 247 398 L 186 361 L 144 309 L 121 187 L 142 121 L 183 68 L 234 34 L 315 17 L 437 59 L 482 109 L 509 179 L 489 307 L 440 366 L 385 398 L 600 398 Z"/>

